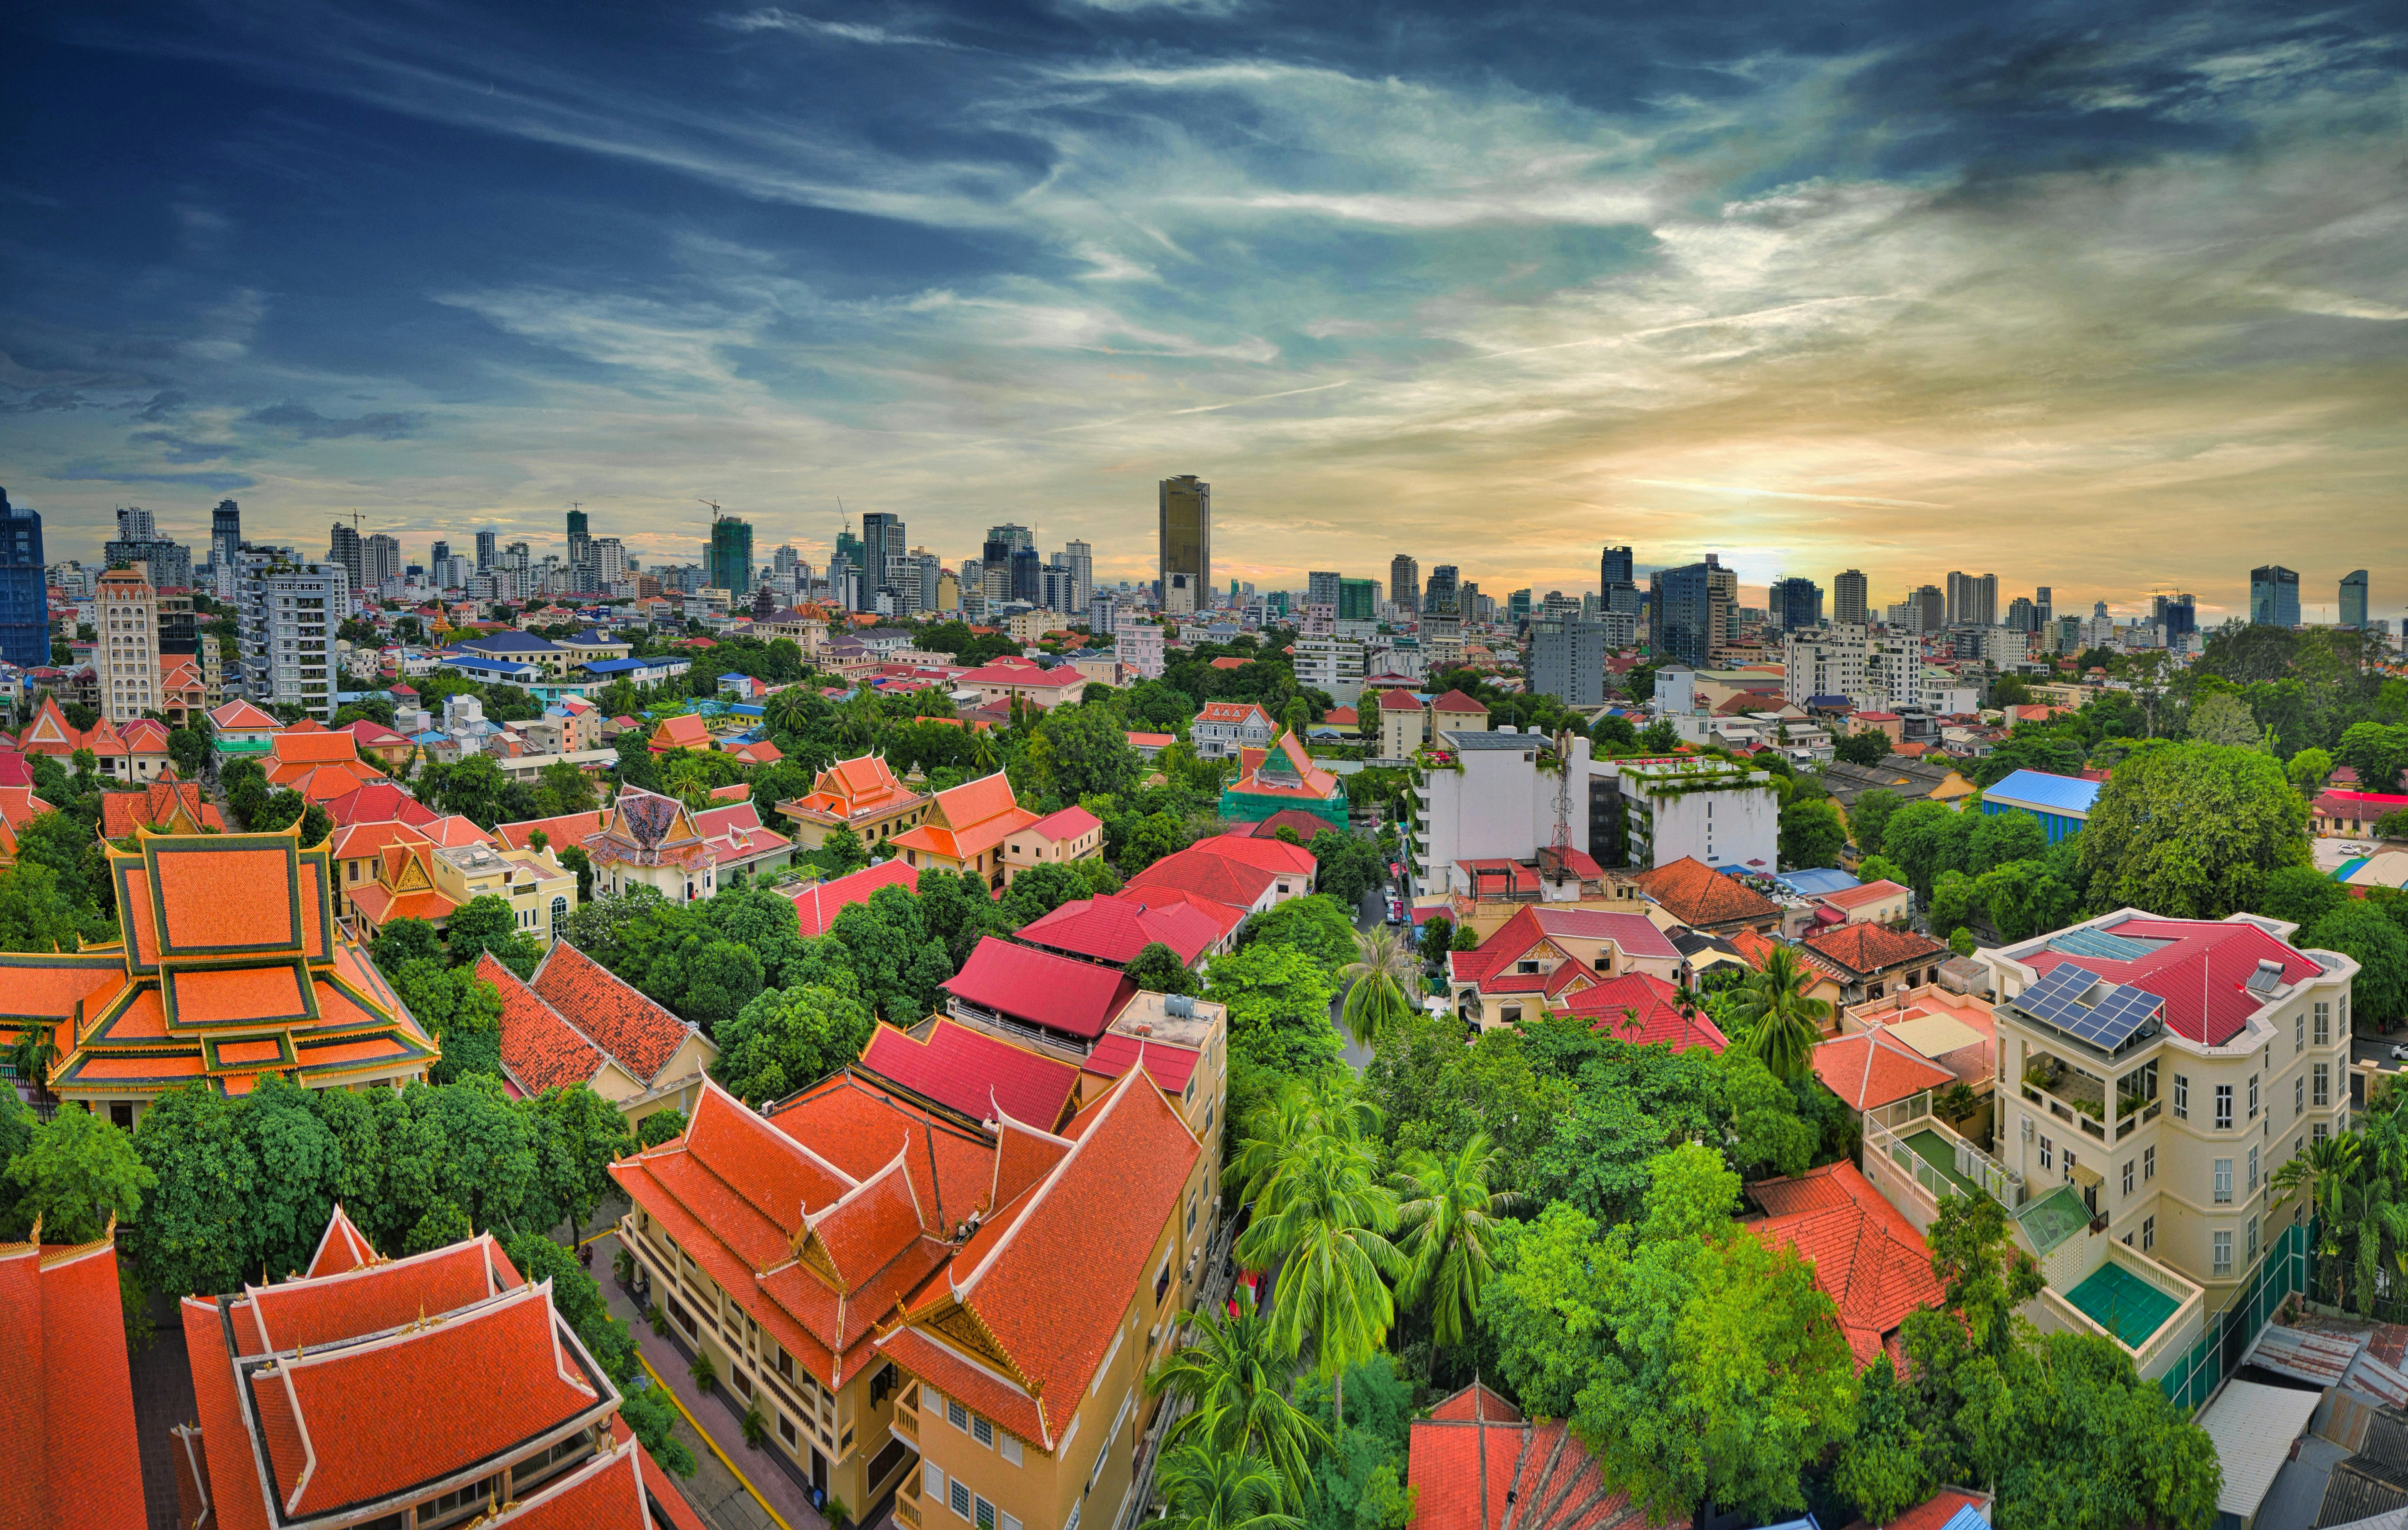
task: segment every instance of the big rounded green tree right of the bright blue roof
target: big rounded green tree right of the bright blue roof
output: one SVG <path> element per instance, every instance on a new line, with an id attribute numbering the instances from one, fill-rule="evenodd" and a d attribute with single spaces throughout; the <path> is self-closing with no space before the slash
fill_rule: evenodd
<path id="1" fill-rule="evenodd" d="M 2093 906 L 2225 918 L 2307 863 L 2307 802 L 2271 754 L 2153 745 L 2117 766 L 2081 846 Z"/>

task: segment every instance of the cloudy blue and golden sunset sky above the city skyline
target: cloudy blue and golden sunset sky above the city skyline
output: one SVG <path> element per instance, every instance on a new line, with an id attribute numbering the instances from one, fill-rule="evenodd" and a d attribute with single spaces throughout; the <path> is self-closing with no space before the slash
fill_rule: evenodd
<path id="1" fill-rule="evenodd" d="M 14 29 L 14 31 L 10 31 Z M 450 5 L 0 19 L 0 484 L 200 542 L 1153 576 L 1950 569 L 2408 602 L 2398 5 Z"/>

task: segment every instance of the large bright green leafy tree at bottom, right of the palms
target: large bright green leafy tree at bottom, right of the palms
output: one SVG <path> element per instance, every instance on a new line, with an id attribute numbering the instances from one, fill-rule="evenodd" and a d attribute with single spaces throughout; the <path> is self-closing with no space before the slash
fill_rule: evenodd
<path id="1" fill-rule="evenodd" d="M 1649 1164 L 1645 1217 L 1601 1231 L 1551 1205 L 1507 1231 L 1486 1328 L 1529 1412 L 1568 1417 L 1652 1518 L 1801 1508 L 1799 1482 L 1854 1426 L 1832 1304 L 1794 1248 L 1731 1222 L 1710 1147 Z"/>

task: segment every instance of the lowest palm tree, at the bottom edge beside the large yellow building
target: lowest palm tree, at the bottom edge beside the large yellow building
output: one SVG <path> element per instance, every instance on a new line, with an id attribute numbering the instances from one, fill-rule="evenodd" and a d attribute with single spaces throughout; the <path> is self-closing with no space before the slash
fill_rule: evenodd
<path id="1" fill-rule="evenodd" d="M 1329 1431 L 1288 1400 L 1291 1381 L 1296 1357 L 1279 1347 L 1271 1320 L 1245 1296 L 1230 1318 L 1197 1313 L 1197 1337 L 1153 1366 L 1146 1393 L 1170 1393 L 1194 1407 L 1163 1436 L 1165 1448 L 1192 1438 L 1214 1455 L 1262 1453 L 1286 1482 L 1288 1501 L 1303 1503 L 1312 1450 L 1329 1448 Z"/>

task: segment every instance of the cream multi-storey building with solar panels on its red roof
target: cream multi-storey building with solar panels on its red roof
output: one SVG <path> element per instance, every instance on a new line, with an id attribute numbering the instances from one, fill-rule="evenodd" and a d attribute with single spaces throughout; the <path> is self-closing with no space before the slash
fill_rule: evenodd
<path id="1" fill-rule="evenodd" d="M 2273 1173 L 2348 1128 L 2357 964 L 2292 932 L 2119 908 L 1982 952 L 1999 1159 L 2035 1197 L 2071 1183 L 2093 1229 L 2179 1270 L 2208 1313 L 2307 1214 Z"/>

